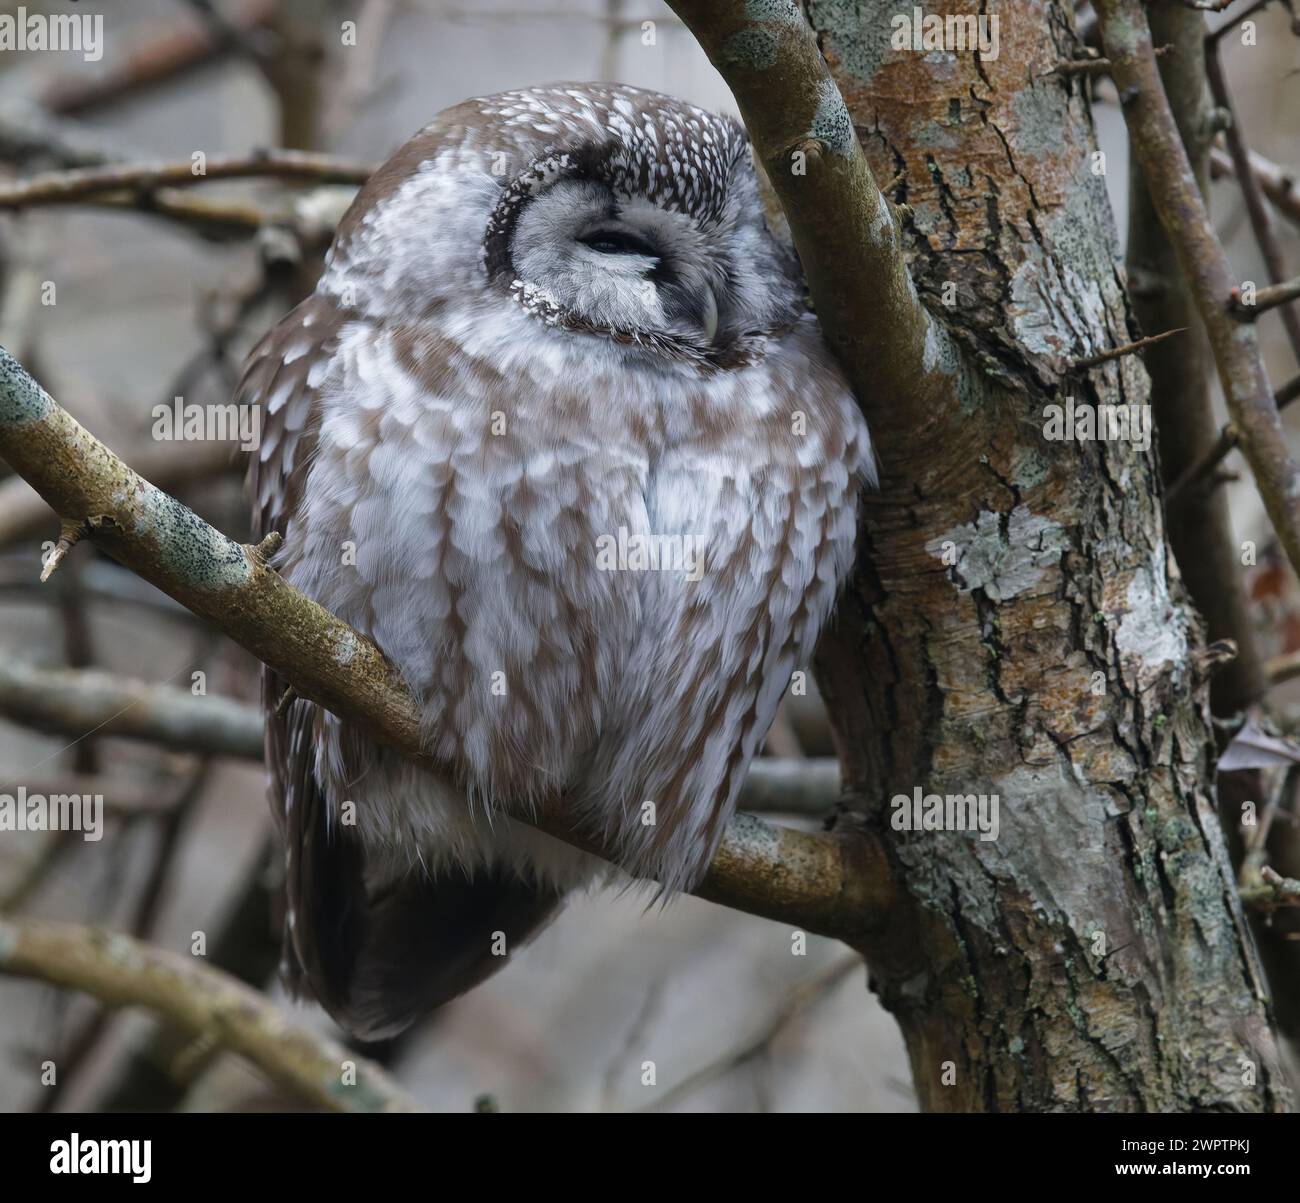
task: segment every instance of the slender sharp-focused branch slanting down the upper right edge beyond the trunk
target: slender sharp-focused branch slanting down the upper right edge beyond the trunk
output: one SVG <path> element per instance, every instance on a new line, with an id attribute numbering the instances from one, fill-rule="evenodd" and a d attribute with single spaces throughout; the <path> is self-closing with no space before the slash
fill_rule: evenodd
<path id="1" fill-rule="evenodd" d="M 1236 281 L 1196 186 L 1139 0 L 1098 0 L 1106 57 L 1134 153 L 1209 336 L 1228 414 L 1287 559 L 1300 570 L 1300 469 L 1287 450 L 1253 324 L 1236 321 Z"/>

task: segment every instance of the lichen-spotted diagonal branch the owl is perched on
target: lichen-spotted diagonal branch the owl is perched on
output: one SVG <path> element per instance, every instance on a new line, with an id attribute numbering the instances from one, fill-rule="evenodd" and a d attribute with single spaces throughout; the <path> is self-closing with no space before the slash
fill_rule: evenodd
<path id="1" fill-rule="evenodd" d="M 0 456 L 62 520 L 309 698 L 416 763 L 438 769 L 420 710 L 380 649 L 289 585 L 265 548 L 234 542 L 131 471 L 0 349 Z M 602 854 L 556 802 L 519 818 Z M 701 897 L 861 944 L 887 921 L 893 886 L 863 835 L 812 834 L 737 815 Z"/>

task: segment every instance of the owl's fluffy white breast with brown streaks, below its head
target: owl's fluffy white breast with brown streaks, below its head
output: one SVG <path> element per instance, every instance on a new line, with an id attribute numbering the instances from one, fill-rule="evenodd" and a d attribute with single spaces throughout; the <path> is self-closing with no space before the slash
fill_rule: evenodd
<path id="1" fill-rule="evenodd" d="M 507 373 L 320 299 L 274 341 L 247 381 L 281 570 L 400 667 L 448 782 L 498 809 L 567 793 L 630 873 L 690 886 L 852 561 L 870 445 L 815 328 L 694 380 Z M 332 796 L 373 765 L 328 737 Z"/>

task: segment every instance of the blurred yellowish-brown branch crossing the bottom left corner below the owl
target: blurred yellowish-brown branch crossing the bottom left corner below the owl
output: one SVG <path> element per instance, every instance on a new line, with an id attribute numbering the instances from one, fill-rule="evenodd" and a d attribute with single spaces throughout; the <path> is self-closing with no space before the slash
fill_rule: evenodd
<path id="1" fill-rule="evenodd" d="M 48 919 L 0 921 L 0 973 L 81 990 L 109 1007 L 148 1007 L 246 1056 L 328 1111 L 422 1111 L 382 1069 L 328 1037 L 289 1022 L 256 990 L 195 957 L 120 932 Z M 355 1085 L 344 1066 L 355 1065 Z"/>

